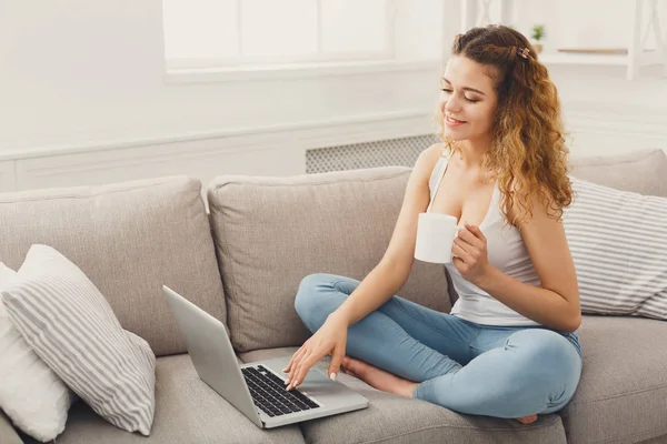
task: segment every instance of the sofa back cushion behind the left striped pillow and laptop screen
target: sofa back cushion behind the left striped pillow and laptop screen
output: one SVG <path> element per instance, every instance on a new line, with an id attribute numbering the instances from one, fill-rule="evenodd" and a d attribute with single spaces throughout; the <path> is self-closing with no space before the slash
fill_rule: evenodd
<path id="1" fill-rule="evenodd" d="M 47 244 L 108 299 L 157 355 L 185 352 L 163 284 L 226 320 L 201 183 L 186 176 L 0 194 L 0 258 L 19 269 Z"/>

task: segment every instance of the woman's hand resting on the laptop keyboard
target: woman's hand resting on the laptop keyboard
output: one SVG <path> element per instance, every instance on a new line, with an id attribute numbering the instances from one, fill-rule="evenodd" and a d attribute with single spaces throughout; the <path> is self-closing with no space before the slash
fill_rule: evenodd
<path id="1" fill-rule="evenodd" d="M 336 375 L 345 357 L 348 325 L 345 319 L 331 313 L 323 325 L 295 352 L 283 370 L 285 373 L 289 373 L 286 382 L 289 384 L 288 391 L 298 387 L 310 367 L 328 354 L 331 354 L 329 377 L 331 381 L 336 381 Z"/>

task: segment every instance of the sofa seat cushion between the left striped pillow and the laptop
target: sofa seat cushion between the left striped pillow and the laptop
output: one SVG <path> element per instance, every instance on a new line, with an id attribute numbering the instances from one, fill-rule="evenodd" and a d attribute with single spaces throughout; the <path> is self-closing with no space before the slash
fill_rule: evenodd
<path id="1" fill-rule="evenodd" d="M 160 357 L 150 436 L 123 432 L 79 402 L 58 444 L 302 443 L 297 425 L 260 430 L 197 376 L 188 354 Z"/>

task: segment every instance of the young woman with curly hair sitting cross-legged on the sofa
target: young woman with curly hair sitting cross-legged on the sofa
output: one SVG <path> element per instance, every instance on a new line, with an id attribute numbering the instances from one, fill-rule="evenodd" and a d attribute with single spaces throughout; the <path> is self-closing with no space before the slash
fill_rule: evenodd
<path id="1" fill-rule="evenodd" d="M 527 424 L 563 408 L 581 372 L 559 100 L 510 28 L 471 29 L 451 52 L 444 143 L 419 155 L 382 260 L 361 282 L 312 274 L 300 283 L 295 306 L 315 334 L 285 369 L 288 390 L 331 354 L 331 379 L 342 366 L 378 390 Z M 446 265 L 459 295 L 450 314 L 395 295 L 427 208 L 465 226 Z"/>

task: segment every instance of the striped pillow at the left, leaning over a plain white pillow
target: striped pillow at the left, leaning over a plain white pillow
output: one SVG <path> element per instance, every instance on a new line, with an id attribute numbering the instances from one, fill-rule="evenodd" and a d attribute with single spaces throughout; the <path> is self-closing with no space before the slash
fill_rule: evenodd
<path id="1" fill-rule="evenodd" d="M 156 357 L 146 341 L 120 326 L 81 270 L 54 249 L 32 245 L 2 300 L 32 350 L 96 413 L 149 435 Z"/>

